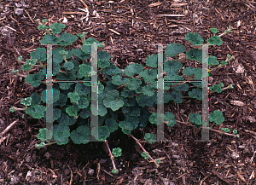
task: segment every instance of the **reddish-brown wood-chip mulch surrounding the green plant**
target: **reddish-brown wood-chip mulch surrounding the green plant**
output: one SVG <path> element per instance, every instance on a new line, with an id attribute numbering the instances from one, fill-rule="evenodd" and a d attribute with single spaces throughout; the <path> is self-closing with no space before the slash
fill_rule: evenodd
<path id="1" fill-rule="evenodd" d="M 256 2 L 84 0 L 90 12 L 87 21 L 81 2 L 0 0 L 0 130 L 18 120 L 0 138 L 0 184 L 256 184 Z M 105 44 L 111 61 L 121 69 L 130 62 L 144 65 L 148 55 L 157 54 L 157 48 L 150 44 L 180 43 L 190 49 L 191 44 L 184 39 L 188 32 L 199 32 L 207 40 L 212 36 L 209 28 L 216 27 L 221 33 L 233 26 L 233 32 L 222 37 L 222 46 L 209 47 L 209 55 L 217 56 L 218 61 L 224 61 L 227 54 L 236 55 L 236 59 L 211 72 L 209 85 L 220 81 L 235 88 L 209 95 L 209 112 L 224 113 L 224 123 L 213 129 L 238 130 L 240 137 L 210 131 L 215 142 L 195 142 L 201 139 L 201 130 L 177 123 L 166 128 L 166 139 L 172 142 L 143 143 L 154 159 L 162 159 L 156 169 L 154 163 L 141 157 L 137 143 L 117 130 L 108 138 L 109 147 L 123 149 L 122 156 L 115 159 L 122 169 L 117 175 L 111 174 L 113 166 L 103 142 L 69 142 L 38 150 L 34 144 L 38 130 L 45 127 L 44 120 L 28 119 L 27 115 L 23 119 L 20 111 L 9 113 L 12 106 L 22 107 L 22 98 L 44 90 L 43 85 L 32 88 L 24 78 L 10 73 L 13 68 L 21 71 L 18 56 L 26 61 L 40 46 L 44 32 L 38 31 L 36 19 L 49 19 L 50 24 L 67 19 L 65 32 L 89 32 L 88 37 Z M 74 43 L 74 47 L 79 44 Z M 195 66 L 194 61 L 183 64 Z M 179 105 L 165 104 L 165 111 L 184 122 L 189 113 L 200 110 L 200 101 L 190 99 Z M 132 135 L 141 139 L 146 132 L 156 133 L 156 128 L 134 130 Z M 89 175 L 91 169 L 94 173 Z"/>

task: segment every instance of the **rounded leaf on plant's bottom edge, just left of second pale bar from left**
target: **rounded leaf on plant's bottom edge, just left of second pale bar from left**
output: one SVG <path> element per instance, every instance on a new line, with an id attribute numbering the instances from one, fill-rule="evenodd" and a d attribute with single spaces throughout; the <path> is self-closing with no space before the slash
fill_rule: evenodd
<path id="1" fill-rule="evenodd" d="M 86 144 L 90 142 L 90 128 L 81 125 L 70 133 L 70 138 L 75 144 Z"/>

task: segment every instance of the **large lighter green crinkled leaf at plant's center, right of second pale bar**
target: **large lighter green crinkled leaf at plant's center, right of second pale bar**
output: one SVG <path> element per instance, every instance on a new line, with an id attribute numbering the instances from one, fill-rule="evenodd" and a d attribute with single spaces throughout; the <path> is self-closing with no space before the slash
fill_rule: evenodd
<path id="1" fill-rule="evenodd" d="M 105 107 L 111 108 L 113 111 L 117 111 L 120 107 L 124 106 L 122 97 L 119 96 L 119 91 L 111 90 L 106 93 L 106 98 L 103 100 Z"/>

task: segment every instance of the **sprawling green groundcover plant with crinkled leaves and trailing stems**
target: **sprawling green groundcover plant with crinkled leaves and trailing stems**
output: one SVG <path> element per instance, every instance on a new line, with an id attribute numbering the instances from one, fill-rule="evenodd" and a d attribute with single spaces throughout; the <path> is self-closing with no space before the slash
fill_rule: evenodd
<path id="1" fill-rule="evenodd" d="M 60 44 L 59 47 L 53 49 L 53 79 L 64 80 L 65 82 L 58 82 L 53 85 L 53 132 L 46 128 L 40 129 L 38 133 L 38 140 L 40 143 L 35 147 L 44 147 L 49 144 L 57 143 L 65 145 L 69 141 L 75 144 L 86 144 L 90 141 L 90 136 L 98 135 L 98 140 L 105 141 L 108 146 L 108 136 L 119 128 L 125 135 L 130 135 L 137 144 L 142 147 L 142 156 L 144 159 L 151 159 L 156 166 L 159 166 L 160 159 L 152 159 L 140 141 L 131 135 L 132 130 L 138 127 L 146 127 L 148 123 L 157 124 L 157 113 L 150 113 L 147 107 L 153 107 L 157 104 L 157 66 L 158 55 L 149 55 L 146 58 L 146 68 L 141 64 L 133 63 L 126 66 L 125 70 L 119 69 L 110 62 L 110 55 L 108 52 L 99 50 L 97 52 L 97 66 L 98 74 L 103 74 L 107 81 L 99 78 L 98 80 L 98 130 L 90 130 L 90 93 L 91 93 L 91 46 L 90 44 L 96 43 L 100 48 L 103 46 L 94 38 L 87 38 L 86 32 L 79 33 L 78 37 L 81 39 L 83 45 L 81 49 L 67 49 L 68 45 L 78 40 L 78 37 L 71 35 L 67 32 L 62 32 L 61 29 L 65 28 L 64 24 L 53 23 L 51 26 L 45 26 L 47 20 L 38 21 L 38 29 L 43 30 L 47 34 L 40 41 L 41 44 Z M 224 34 L 228 34 L 231 30 L 229 27 Z M 213 36 L 207 39 L 207 43 L 221 45 L 222 40 L 220 37 L 215 36 L 218 32 L 216 28 L 211 28 Z M 222 34 L 222 35 L 224 35 Z M 185 37 L 194 49 L 189 49 L 185 52 L 183 44 L 171 43 L 166 46 L 164 55 L 163 69 L 165 73 L 164 80 L 169 81 L 164 83 L 164 90 L 169 92 L 164 93 L 164 103 L 174 101 L 175 103 L 183 102 L 183 95 L 189 95 L 190 98 L 197 100 L 202 99 L 201 83 L 193 82 L 193 80 L 201 80 L 201 68 L 183 67 L 181 61 L 177 60 L 177 55 L 186 54 L 185 59 L 198 61 L 202 63 L 202 50 L 198 45 L 204 42 L 200 34 L 189 32 Z M 16 75 L 25 78 L 25 82 L 31 84 L 32 87 L 38 87 L 40 84 L 45 84 L 46 78 L 46 49 L 40 47 L 35 49 L 31 54 L 31 59 L 26 62 L 22 61 L 22 56 L 18 58 L 21 64 L 24 64 L 21 69 L 25 70 L 28 74 L 21 75 L 19 70 L 13 70 Z M 175 60 L 168 61 L 166 56 L 175 57 Z M 208 63 L 210 70 L 215 70 L 221 66 L 228 64 L 228 61 L 233 59 L 234 56 L 227 56 L 226 61 L 218 62 L 215 56 L 209 55 Z M 216 66 L 215 68 L 211 68 Z M 29 73 L 33 67 L 41 68 L 38 73 Z M 179 75 L 179 73 L 182 73 Z M 174 83 L 170 81 L 183 81 L 190 80 L 189 83 Z M 83 83 L 67 83 L 67 81 L 84 81 Z M 88 83 L 89 81 L 89 83 Z M 212 93 L 221 92 L 224 89 L 232 88 L 228 86 L 224 88 L 224 84 L 213 84 L 210 87 Z M 34 119 L 46 120 L 46 94 L 47 90 L 43 90 L 41 95 L 37 93 L 32 94 L 30 97 L 22 99 L 20 103 L 24 108 L 10 107 L 11 112 L 16 110 L 23 110 Z M 146 107 L 147 106 L 147 107 Z M 124 120 L 118 120 L 118 111 L 124 114 Z M 173 127 L 177 122 L 173 113 L 166 112 L 164 114 L 164 123 L 167 126 Z M 190 113 L 189 121 L 197 128 L 202 127 L 202 119 L 200 113 Z M 215 110 L 209 115 L 209 121 L 215 124 L 222 124 L 224 122 L 223 113 Z M 183 122 L 179 122 L 183 123 Z M 188 124 L 188 123 L 184 123 Z M 76 129 L 71 130 L 69 126 L 76 125 Z M 213 125 L 213 124 L 212 124 Z M 215 130 L 219 133 L 229 132 L 228 128 L 222 130 Z M 233 130 L 236 135 L 237 131 Z M 49 142 L 53 137 L 55 142 Z M 146 133 L 144 140 L 149 143 L 154 143 L 156 137 L 153 133 Z M 108 147 L 110 157 L 113 161 L 114 157 L 121 155 L 121 148 L 114 148 L 111 152 Z M 117 169 L 113 163 L 113 173 Z"/>

